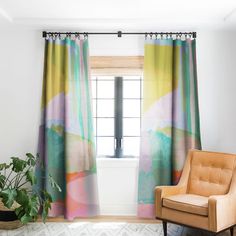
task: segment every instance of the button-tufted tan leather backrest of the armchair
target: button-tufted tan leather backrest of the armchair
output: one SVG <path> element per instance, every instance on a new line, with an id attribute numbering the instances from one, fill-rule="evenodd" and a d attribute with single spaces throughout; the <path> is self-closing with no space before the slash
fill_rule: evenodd
<path id="1" fill-rule="evenodd" d="M 227 194 L 235 171 L 236 155 L 193 150 L 190 155 L 189 194 L 209 197 Z"/>

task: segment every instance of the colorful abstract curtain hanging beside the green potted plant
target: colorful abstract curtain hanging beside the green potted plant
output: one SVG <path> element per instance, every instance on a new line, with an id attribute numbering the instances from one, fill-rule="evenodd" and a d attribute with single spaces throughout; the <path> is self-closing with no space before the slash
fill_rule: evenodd
<path id="1" fill-rule="evenodd" d="M 62 188 L 53 190 L 48 179 L 39 183 L 53 196 L 49 215 L 97 215 L 87 39 L 46 39 L 41 110 L 39 154 L 45 172 Z"/>

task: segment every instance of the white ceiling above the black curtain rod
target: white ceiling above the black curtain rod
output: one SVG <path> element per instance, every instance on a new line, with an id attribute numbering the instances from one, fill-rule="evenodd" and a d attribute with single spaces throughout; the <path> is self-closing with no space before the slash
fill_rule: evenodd
<path id="1" fill-rule="evenodd" d="M 236 0 L 0 0 L 1 28 L 236 29 Z"/>

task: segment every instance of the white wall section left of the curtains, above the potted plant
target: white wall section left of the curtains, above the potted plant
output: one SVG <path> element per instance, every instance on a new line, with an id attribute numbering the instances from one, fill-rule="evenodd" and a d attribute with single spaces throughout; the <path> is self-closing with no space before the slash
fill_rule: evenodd
<path id="1" fill-rule="evenodd" d="M 11 30 L 1 34 L 1 161 L 36 150 L 43 51 L 39 32 Z"/>

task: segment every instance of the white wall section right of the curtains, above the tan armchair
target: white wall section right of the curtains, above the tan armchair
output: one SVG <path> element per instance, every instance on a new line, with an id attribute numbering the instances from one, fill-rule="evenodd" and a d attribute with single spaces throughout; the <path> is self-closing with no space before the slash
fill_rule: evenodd
<path id="1" fill-rule="evenodd" d="M 236 153 L 236 32 L 200 32 L 198 84 L 203 149 Z"/>

